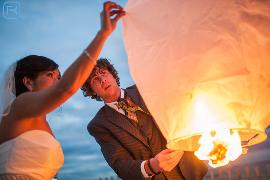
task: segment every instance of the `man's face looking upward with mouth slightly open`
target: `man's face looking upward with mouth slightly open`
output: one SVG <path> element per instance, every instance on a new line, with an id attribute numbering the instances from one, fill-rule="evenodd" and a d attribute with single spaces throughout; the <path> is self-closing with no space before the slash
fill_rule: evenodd
<path id="1" fill-rule="evenodd" d="M 98 75 L 94 76 L 90 81 L 90 87 L 94 91 L 93 94 L 100 96 L 105 102 L 117 101 L 121 95 L 121 90 L 117 85 L 116 79 L 107 70 L 103 69 Z"/>

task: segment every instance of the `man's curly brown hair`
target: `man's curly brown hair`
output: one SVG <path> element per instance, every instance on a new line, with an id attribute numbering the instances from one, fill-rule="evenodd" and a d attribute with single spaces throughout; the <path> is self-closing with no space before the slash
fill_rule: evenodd
<path id="1" fill-rule="evenodd" d="M 97 65 L 94 67 L 91 75 L 88 77 L 86 82 L 81 87 L 84 97 L 89 96 L 92 99 L 96 99 L 97 101 L 103 101 L 100 96 L 93 94 L 94 91 L 90 87 L 90 82 L 92 78 L 98 75 L 98 73 L 101 74 L 104 69 L 108 70 L 113 75 L 113 77 L 116 79 L 117 85 L 120 86 L 120 79 L 118 77 L 118 72 L 114 69 L 113 64 L 110 64 L 110 60 L 106 58 L 100 58 L 98 59 Z"/>

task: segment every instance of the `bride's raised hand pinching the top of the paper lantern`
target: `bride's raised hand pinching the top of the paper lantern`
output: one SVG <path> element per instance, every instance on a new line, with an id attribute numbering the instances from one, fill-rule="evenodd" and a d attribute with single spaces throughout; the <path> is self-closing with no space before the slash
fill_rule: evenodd
<path id="1" fill-rule="evenodd" d="M 107 36 L 109 36 L 113 30 L 116 28 L 117 21 L 125 16 L 125 11 L 123 11 L 123 8 L 119 5 L 117 5 L 114 2 L 104 2 L 103 4 L 104 8 L 103 11 L 100 14 L 101 17 L 101 31 L 104 32 Z M 113 10 L 112 9 L 118 9 Z M 111 16 L 115 15 L 113 19 L 110 19 Z"/>

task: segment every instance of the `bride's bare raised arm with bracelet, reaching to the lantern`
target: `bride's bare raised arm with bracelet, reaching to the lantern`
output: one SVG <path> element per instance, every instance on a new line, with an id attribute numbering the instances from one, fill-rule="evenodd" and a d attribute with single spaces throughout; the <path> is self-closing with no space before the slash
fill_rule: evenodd
<path id="1" fill-rule="evenodd" d="M 117 10 L 111 11 L 112 9 Z M 110 19 L 115 14 L 116 17 Z M 29 92 L 22 93 L 13 101 L 10 108 L 13 118 L 26 119 L 43 116 L 53 111 L 76 93 L 91 74 L 107 37 L 115 29 L 117 21 L 124 15 L 125 11 L 123 11 L 122 7 L 113 2 L 105 2 L 104 10 L 101 12 L 100 31 L 89 46 L 86 47 L 85 51 L 82 50 L 82 54 L 64 72 L 59 81 L 55 80 L 52 86 L 37 91 L 34 88 L 36 82 L 29 78 L 24 79 L 24 84 L 29 89 Z M 55 71 L 49 71 L 44 76 L 57 79 L 57 71 L 56 73 Z M 30 92 L 30 88 L 33 90 L 32 92 Z"/>

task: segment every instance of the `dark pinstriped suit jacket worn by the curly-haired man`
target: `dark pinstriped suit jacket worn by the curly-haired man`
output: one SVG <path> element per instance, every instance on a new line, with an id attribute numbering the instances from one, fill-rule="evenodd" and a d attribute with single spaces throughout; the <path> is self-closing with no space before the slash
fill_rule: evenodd
<path id="1" fill-rule="evenodd" d="M 126 89 L 131 101 L 149 112 L 136 85 Z M 166 139 L 155 126 L 152 116 L 136 111 L 140 132 L 127 117 L 105 104 L 87 126 L 101 146 L 101 152 L 107 163 L 123 180 L 142 179 L 140 165 L 149 157 L 166 148 Z M 181 169 L 181 171 L 180 171 Z M 193 152 L 184 152 L 183 157 L 172 171 L 153 176 L 156 180 L 201 180 L 207 172 L 207 166 L 198 160 Z M 183 178 L 184 176 L 184 178 Z"/>

